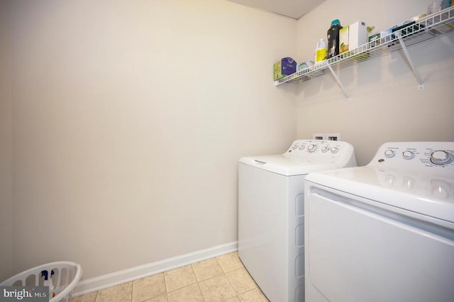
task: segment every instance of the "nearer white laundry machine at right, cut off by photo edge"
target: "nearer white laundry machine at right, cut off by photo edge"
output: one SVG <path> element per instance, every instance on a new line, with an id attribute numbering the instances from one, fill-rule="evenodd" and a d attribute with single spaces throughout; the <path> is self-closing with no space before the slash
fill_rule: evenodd
<path id="1" fill-rule="evenodd" d="M 454 142 L 305 180 L 306 301 L 454 301 Z"/>

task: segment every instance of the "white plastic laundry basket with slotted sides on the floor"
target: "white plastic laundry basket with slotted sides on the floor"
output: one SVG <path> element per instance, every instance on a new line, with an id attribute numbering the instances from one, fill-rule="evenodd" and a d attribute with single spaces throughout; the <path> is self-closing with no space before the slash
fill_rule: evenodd
<path id="1" fill-rule="evenodd" d="M 69 302 L 72 290 L 82 276 L 82 267 L 74 262 L 52 262 L 33 267 L 3 281 L 0 286 L 49 286 L 49 301 Z"/>

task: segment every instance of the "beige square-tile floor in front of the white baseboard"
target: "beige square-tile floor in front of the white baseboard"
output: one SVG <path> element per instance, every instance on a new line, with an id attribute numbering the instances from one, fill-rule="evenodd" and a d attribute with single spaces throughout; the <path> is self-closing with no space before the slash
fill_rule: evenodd
<path id="1" fill-rule="evenodd" d="M 238 252 L 72 298 L 72 302 L 211 302 L 267 298 L 238 258 Z"/>

